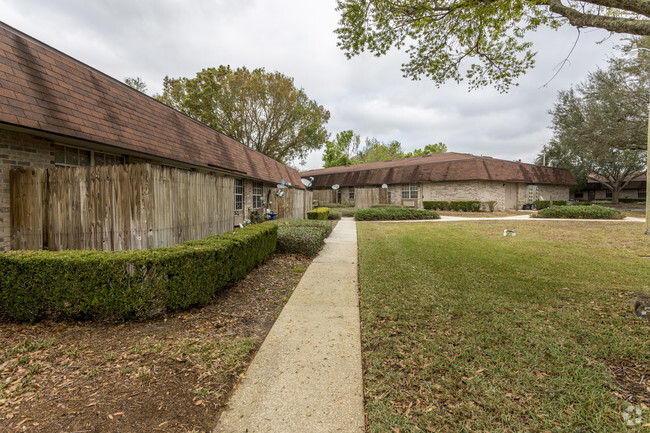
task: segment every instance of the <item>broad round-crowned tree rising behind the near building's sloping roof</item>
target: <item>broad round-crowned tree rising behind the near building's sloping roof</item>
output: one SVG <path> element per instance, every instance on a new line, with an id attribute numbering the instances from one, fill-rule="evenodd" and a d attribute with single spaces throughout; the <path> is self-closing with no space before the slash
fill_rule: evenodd
<path id="1" fill-rule="evenodd" d="M 304 161 L 327 140 L 329 111 L 293 79 L 263 68 L 203 69 L 169 78 L 156 99 L 282 163 Z"/>

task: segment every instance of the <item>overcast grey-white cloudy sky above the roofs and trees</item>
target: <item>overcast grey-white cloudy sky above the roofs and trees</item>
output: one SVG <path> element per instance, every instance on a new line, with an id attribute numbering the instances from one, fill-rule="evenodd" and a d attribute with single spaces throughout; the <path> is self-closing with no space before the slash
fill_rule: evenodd
<path id="1" fill-rule="evenodd" d="M 191 6 L 190 6 L 191 5 Z M 203 68 L 264 67 L 293 77 L 325 106 L 328 131 L 398 140 L 406 151 L 444 142 L 450 151 L 532 162 L 548 141 L 557 91 L 605 66 L 619 39 L 583 30 L 540 31 L 537 66 L 507 94 L 403 78 L 401 52 L 346 59 L 333 31 L 335 0 L 0 0 L 0 20 L 117 79 L 163 78 Z M 557 76 L 551 78 L 557 73 Z M 549 80 L 550 83 L 545 85 Z M 297 163 L 297 162 L 296 162 Z M 319 168 L 313 152 L 300 168 Z"/>

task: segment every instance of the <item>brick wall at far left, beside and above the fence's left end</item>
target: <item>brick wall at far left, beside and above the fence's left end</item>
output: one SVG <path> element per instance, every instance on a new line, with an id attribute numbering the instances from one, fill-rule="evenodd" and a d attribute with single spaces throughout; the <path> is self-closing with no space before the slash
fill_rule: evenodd
<path id="1" fill-rule="evenodd" d="M 54 166 L 49 140 L 33 135 L 0 130 L 0 251 L 11 247 L 9 171 L 18 167 Z"/>

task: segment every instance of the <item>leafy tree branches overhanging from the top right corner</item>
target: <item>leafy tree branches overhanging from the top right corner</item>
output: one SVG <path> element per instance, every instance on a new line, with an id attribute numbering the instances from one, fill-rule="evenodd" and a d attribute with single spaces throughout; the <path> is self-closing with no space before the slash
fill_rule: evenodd
<path id="1" fill-rule="evenodd" d="M 570 24 L 650 35 L 650 2 L 642 0 L 338 0 L 338 45 L 348 58 L 407 45 L 405 77 L 467 80 L 470 88 L 506 91 L 534 66 L 526 34 Z M 469 62 L 469 64 L 468 64 Z M 465 68 L 465 71 L 462 71 Z"/>

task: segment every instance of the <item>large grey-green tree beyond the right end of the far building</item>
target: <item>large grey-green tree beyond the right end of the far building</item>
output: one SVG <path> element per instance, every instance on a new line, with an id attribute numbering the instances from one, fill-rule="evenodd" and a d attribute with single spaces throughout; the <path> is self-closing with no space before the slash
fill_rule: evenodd
<path id="1" fill-rule="evenodd" d="M 614 203 L 645 167 L 650 77 L 637 61 L 612 59 L 607 70 L 560 91 L 550 111 L 553 139 L 538 156 L 538 162 L 545 155 L 551 166 L 570 169 L 581 183 L 602 183 Z"/>

